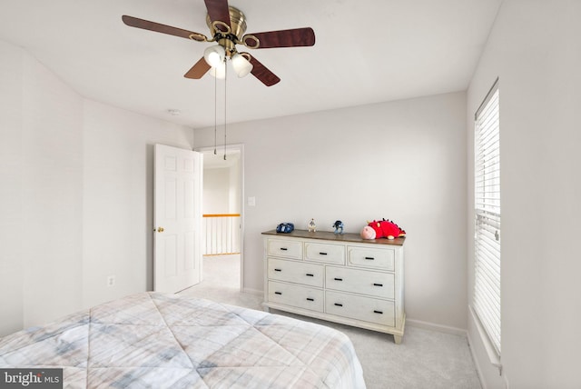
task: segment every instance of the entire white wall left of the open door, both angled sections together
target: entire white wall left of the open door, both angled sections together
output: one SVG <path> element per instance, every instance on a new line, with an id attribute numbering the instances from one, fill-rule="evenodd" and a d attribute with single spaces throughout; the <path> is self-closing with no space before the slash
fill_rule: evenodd
<path id="1" fill-rule="evenodd" d="M 192 149 L 192 130 L 88 101 L 14 45 L 0 57 L 3 335 L 151 288 L 153 144 Z"/>

